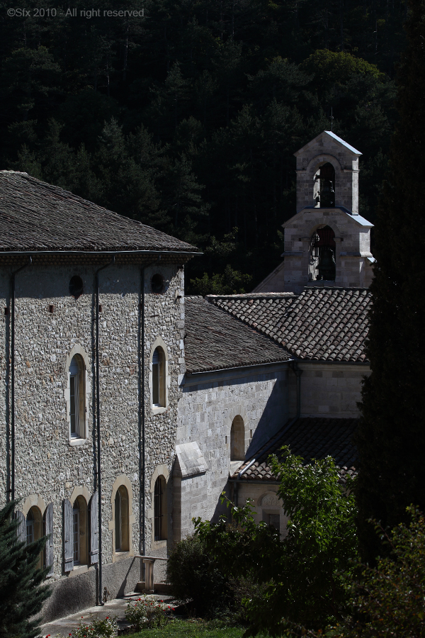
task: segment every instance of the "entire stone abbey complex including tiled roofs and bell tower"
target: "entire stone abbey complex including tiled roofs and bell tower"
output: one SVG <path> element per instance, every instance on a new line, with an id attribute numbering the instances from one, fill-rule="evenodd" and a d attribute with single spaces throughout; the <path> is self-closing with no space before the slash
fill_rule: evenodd
<path id="1" fill-rule="evenodd" d="M 196 247 L 0 172 L 0 492 L 23 542 L 49 536 L 45 622 L 149 588 L 143 557 L 217 520 L 222 491 L 284 535 L 268 466 L 283 444 L 331 454 L 342 482 L 356 471 L 361 152 L 324 131 L 295 155 L 283 261 L 252 293 L 206 298 L 184 295 Z"/>

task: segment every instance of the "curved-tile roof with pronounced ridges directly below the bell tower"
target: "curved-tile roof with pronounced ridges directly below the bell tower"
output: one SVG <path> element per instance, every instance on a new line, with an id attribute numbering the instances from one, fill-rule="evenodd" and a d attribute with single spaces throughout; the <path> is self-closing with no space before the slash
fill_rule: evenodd
<path id="1" fill-rule="evenodd" d="M 366 361 L 368 289 L 306 287 L 299 296 L 251 293 L 207 299 L 299 359 Z"/>

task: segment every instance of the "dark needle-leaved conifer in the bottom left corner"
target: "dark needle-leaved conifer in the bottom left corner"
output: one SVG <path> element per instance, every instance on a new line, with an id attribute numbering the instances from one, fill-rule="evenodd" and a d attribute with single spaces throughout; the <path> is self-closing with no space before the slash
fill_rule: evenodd
<path id="1" fill-rule="evenodd" d="M 35 638 L 50 586 L 42 584 L 49 568 L 38 569 L 46 537 L 33 543 L 19 542 L 18 520 L 13 520 L 15 502 L 0 510 L 0 638 Z"/>

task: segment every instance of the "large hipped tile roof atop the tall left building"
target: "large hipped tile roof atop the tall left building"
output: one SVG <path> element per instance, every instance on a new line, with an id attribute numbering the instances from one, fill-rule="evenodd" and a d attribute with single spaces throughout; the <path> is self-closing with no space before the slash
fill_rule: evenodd
<path id="1" fill-rule="evenodd" d="M 1 251 L 160 250 L 193 246 L 26 173 L 0 171 Z"/>

